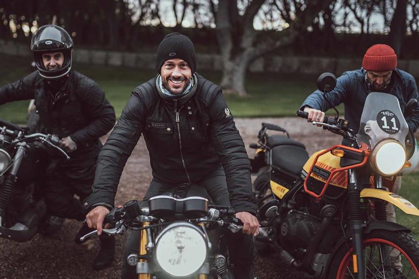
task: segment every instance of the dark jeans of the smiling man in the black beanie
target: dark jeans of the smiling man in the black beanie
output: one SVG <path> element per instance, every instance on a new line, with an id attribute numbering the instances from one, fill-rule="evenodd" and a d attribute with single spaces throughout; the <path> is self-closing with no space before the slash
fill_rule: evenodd
<path id="1" fill-rule="evenodd" d="M 169 186 L 160 183 L 153 179 L 150 182 L 142 204 L 154 196 L 163 194 L 165 192 L 174 192 L 178 185 Z M 206 192 L 205 192 L 206 190 Z M 186 196 L 200 196 L 211 197 L 216 205 L 230 206 L 228 198 L 227 182 L 222 168 L 209 173 L 200 181 L 188 186 Z M 139 231 L 130 231 L 128 239 L 125 244 L 123 259 L 122 259 L 122 274 L 121 278 L 138 278 L 135 266 L 129 266 L 126 258 L 129 254 L 138 253 L 140 246 Z M 251 235 L 242 233 L 233 234 L 231 232 L 226 234 L 228 242 L 228 251 L 230 253 L 230 262 L 234 264 L 234 276 L 237 279 L 253 279 L 253 239 Z"/>

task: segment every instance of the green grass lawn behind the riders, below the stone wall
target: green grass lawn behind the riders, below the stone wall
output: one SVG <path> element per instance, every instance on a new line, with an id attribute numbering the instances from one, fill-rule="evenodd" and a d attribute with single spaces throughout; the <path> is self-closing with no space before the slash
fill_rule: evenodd
<path id="1" fill-rule="evenodd" d="M 0 55 L 0 85 L 13 82 L 30 73 L 30 59 Z M 155 75 L 155 71 L 109 66 L 77 65 L 73 68 L 94 79 L 114 105 L 119 117 L 131 91 Z M 200 72 L 218 83 L 219 72 Z M 280 117 L 295 115 L 304 99 L 316 88 L 317 76 L 254 74 L 247 75 L 248 97 L 226 94 L 227 103 L 235 117 Z M 25 123 L 28 101 L 0 106 L 0 118 Z M 343 109 L 339 109 L 343 113 Z"/>

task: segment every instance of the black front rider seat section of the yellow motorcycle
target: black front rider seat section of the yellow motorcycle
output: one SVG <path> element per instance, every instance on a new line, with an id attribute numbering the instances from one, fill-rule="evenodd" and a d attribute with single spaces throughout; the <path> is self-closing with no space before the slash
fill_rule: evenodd
<path id="1" fill-rule="evenodd" d="M 280 145 L 272 149 L 272 164 L 277 168 L 300 175 L 303 165 L 308 160 L 308 153 L 303 147 Z"/>

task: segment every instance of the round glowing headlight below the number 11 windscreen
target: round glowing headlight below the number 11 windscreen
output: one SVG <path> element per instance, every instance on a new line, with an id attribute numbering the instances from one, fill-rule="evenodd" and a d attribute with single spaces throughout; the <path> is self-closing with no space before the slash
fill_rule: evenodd
<path id="1" fill-rule="evenodd" d="M 384 176 L 397 174 L 405 162 L 406 152 L 403 146 L 392 139 L 379 143 L 372 153 L 374 169 Z"/>

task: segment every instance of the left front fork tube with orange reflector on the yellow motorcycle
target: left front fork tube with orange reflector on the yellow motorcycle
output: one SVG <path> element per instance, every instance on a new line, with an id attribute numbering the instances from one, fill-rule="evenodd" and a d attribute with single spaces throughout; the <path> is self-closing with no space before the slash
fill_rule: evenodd
<path id="1" fill-rule="evenodd" d="M 361 216 L 361 202 L 359 200 L 360 189 L 356 179 L 356 171 L 349 169 L 349 184 L 348 184 L 348 209 L 349 209 L 349 226 L 352 231 L 352 246 L 353 246 L 353 271 L 357 273 L 358 279 L 365 278 L 365 267 L 363 259 L 363 245 L 362 245 L 362 216 Z"/>

